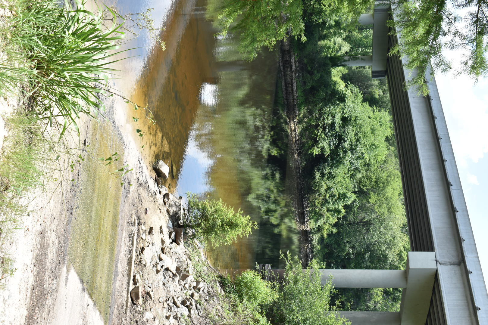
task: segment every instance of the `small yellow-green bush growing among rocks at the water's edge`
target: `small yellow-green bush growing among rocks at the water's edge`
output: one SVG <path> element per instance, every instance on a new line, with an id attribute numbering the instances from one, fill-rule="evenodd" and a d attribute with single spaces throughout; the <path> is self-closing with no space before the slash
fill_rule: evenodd
<path id="1" fill-rule="evenodd" d="M 238 236 L 248 236 L 257 224 L 239 209 L 234 211 L 222 199 L 200 199 L 188 192 L 184 227 L 197 231 L 197 237 L 212 243 L 214 247 L 232 244 Z"/>

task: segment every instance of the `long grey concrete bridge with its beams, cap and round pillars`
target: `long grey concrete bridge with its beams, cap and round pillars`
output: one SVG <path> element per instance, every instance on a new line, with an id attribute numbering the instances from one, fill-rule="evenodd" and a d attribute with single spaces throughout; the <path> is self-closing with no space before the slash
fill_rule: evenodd
<path id="1" fill-rule="evenodd" d="M 405 90 L 405 81 L 417 72 L 405 69 L 408 57 L 387 55 L 402 37 L 401 30 L 389 35 L 386 20 L 395 17 L 395 8 L 385 2 L 362 15 L 360 23 L 373 25 L 372 55 L 346 57 L 345 64 L 370 65 L 373 78 L 387 79 L 412 251 L 404 273 L 324 270 L 324 275 L 333 274 L 336 287 L 404 288 L 399 313 L 344 312 L 353 325 L 488 325 L 487 289 L 437 85 L 427 75 L 428 96 Z"/>

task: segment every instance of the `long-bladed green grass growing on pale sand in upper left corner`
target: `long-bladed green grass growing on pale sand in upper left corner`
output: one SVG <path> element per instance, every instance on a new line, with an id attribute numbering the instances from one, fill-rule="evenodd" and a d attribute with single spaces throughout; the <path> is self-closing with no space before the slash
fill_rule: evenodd
<path id="1" fill-rule="evenodd" d="M 88 10 L 85 3 L 0 3 L 5 9 L 0 16 L 0 96 L 20 96 L 23 106 L 8 118 L 0 153 L 0 283 L 14 271 L 5 243 L 28 213 L 25 197 L 42 186 L 41 171 L 53 170 L 46 162 L 57 153 L 45 149 L 57 145 L 47 138 L 78 131 L 81 115 L 97 119 L 103 114 L 100 98 L 109 75 L 117 72 L 114 57 L 124 52 L 118 50 L 126 41 L 120 31 L 123 19 L 104 5 Z"/>

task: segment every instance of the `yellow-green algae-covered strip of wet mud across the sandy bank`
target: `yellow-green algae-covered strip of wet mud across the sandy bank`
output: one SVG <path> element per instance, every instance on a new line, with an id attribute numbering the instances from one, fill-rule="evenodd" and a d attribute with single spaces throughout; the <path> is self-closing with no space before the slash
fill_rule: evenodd
<path id="1" fill-rule="evenodd" d="M 122 143 L 110 123 L 92 123 L 91 128 L 92 146 L 89 149 L 95 157 L 108 157 L 116 152 L 123 156 Z M 122 159 L 108 166 L 91 161 L 82 165 L 81 187 L 69 234 L 69 260 L 105 322 L 112 298 L 122 196 L 121 179 L 111 172 L 122 165 Z"/>

